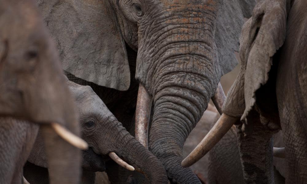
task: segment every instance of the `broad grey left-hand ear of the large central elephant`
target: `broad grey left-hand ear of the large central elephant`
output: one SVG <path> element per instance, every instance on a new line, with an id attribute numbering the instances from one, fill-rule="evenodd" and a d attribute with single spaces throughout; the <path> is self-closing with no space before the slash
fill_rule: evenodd
<path id="1" fill-rule="evenodd" d="M 65 71 L 100 86 L 129 88 L 125 41 L 108 1 L 45 0 L 38 5 Z"/>

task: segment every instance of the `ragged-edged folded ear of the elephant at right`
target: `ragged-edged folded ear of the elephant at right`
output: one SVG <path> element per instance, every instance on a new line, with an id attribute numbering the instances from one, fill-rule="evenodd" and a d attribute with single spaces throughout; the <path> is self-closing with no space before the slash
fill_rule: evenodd
<path id="1" fill-rule="evenodd" d="M 286 0 L 259 1 L 252 17 L 243 26 L 240 58 L 246 64 L 244 81 L 246 107 L 241 120 L 246 121 L 248 113 L 254 108 L 256 91 L 269 79 L 273 56 L 285 40 L 289 9 L 290 3 Z"/>

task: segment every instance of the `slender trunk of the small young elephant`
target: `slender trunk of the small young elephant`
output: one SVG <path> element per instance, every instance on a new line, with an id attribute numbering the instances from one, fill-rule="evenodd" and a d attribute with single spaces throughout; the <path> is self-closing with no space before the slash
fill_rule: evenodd
<path id="1" fill-rule="evenodd" d="M 120 122 L 117 122 L 113 129 L 112 132 L 118 132 L 114 139 L 115 142 L 112 143 L 117 148 L 113 151 L 134 167 L 140 168 L 150 183 L 166 184 L 168 182 L 167 175 L 161 161 L 131 136 Z"/>

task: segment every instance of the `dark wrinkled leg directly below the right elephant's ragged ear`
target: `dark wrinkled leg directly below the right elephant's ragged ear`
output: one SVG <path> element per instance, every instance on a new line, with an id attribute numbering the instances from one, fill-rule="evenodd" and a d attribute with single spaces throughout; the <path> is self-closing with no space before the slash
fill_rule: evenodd
<path id="1" fill-rule="evenodd" d="M 237 127 L 244 180 L 246 184 L 273 184 L 273 132 L 262 125 L 258 113 L 253 116 L 252 133 L 244 135 L 242 126 Z"/>

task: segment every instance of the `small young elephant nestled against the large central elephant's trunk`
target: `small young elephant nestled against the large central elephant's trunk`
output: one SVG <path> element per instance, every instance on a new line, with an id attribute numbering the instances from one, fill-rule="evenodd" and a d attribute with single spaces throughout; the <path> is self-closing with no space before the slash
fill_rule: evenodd
<path id="1" fill-rule="evenodd" d="M 115 152 L 132 166 L 138 167 L 146 173 L 150 183 L 167 183 L 162 163 L 126 131 L 90 86 L 81 86 L 68 81 L 68 87 L 79 112 L 82 138 L 87 141 L 90 147 L 90 150 L 83 151 L 82 166 L 87 174 L 83 177 L 84 180 L 85 178 L 93 180 L 95 179 L 95 171 L 105 170 L 104 160 L 100 155 Z M 40 137 L 38 137 L 28 161 L 47 168 L 44 145 Z M 33 170 L 33 167 L 30 169 Z M 35 178 L 37 172 L 40 172 L 39 168 L 36 172 L 27 172 L 29 175 L 25 175 L 25 178 Z M 40 179 L 41 176 L 28 181 L 40 183 Z"/>

